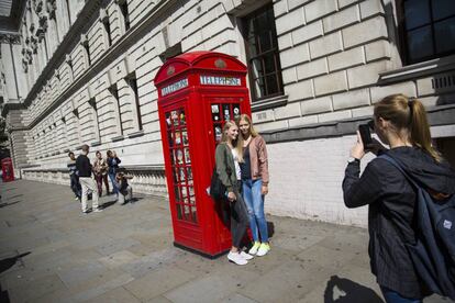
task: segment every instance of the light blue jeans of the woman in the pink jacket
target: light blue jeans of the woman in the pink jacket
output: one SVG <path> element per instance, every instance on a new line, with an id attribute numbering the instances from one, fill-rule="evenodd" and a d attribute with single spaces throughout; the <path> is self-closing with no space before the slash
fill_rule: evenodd
<path id="1" fill-rule="evenodd" d="M 253 239 L 255 242 L 268 242 L 267 221 L 264 214 L 264 195 L 260 190 L 263 180 L 242 180 L 243 200 L 249 216 L 249 228 L 252 228 Z"/>

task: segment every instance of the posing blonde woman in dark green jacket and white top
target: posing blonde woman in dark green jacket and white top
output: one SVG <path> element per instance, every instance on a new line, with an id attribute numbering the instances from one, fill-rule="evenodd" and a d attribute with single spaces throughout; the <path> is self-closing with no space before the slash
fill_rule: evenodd
<path id="1" fill-rule="evenodd" d="M 240 194 L 242 161 L 242 142 L 238 139 L 238 127 L 234 121 L 226 121 L 221 143 L 215 150 L 217 173 L 226 187 L 226 201 L 231 204 L 232 247 L 228 259 L 236 265 L 246 265 L 253 256 L 242 251 L 241 242 L 248 225 L 245 202 Z"/>

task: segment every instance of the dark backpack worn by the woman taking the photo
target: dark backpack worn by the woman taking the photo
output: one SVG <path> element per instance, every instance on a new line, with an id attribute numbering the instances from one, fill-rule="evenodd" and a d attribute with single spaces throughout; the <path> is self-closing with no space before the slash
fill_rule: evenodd
<path id="1" fill-rule="evenodd" d="M 379 158 L 399 169 L 417 193 L 417 243 L 404 244 L 415 271 L 429 290 L 455 300 L 455 195 L 435 200 L 399 160 L 388 155 Z"/>

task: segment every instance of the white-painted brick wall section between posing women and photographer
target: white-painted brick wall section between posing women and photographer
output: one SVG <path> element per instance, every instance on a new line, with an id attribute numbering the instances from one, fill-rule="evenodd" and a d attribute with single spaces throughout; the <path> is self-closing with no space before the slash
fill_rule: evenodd
<path id="1" fill-rule="evenodd" d="M 348 210 L 342 181 L 355 136 L 267 145 L 267 213 L 365 226 L 367 207 Z M 366 157 L 362 167 L 370 159 Z"/>

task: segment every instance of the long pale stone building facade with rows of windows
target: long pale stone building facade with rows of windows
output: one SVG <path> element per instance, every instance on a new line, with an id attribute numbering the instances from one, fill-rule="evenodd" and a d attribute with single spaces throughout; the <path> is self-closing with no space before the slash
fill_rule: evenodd
<path id="1" fill-rule="evenodd" d="M 67 183 L 67 152 L 87 143 L 116 150 L 137 191 L 165 195 L 153 79 L 191 50 L 248 66 L 269 149 L 267 212 L 365 225 L 366 207 L 345 209 L 341 183 L 358 123 L 390 93 L 424 102 L 435 144 L 454 160 L 451 0 L 15 2 L 0 22 L 1 96 L 24 179 Z"/>

